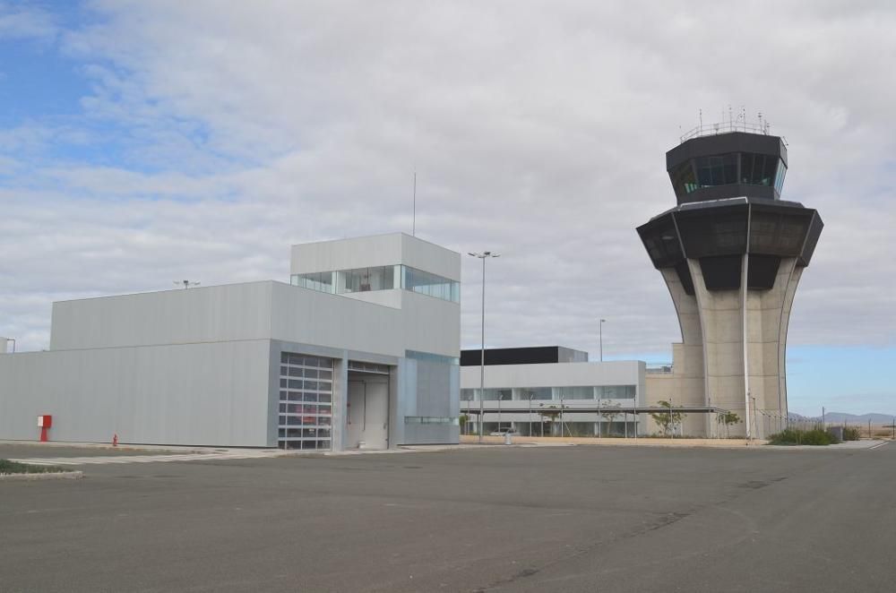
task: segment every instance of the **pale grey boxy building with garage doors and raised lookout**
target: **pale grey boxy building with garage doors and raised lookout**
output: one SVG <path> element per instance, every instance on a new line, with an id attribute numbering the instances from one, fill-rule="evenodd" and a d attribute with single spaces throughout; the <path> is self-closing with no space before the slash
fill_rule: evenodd
<path id="1" fill-rule="evenodd" d="M 0 439 L 50 417 L 66 442 L 458 443 L 460 254 L 396 233 L 295 245 L 290 269 L 55 303 L 47 351 L 0 355 Z"/>

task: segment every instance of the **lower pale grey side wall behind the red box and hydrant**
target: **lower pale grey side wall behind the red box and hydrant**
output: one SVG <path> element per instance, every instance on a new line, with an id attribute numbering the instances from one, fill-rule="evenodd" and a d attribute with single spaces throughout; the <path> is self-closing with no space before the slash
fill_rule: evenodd
<path id="1" fill-rule="evenodd" d="M 264 339 L 0 357 L 0 438 L 269 445 Z M 276 435 L 276 432 L 274 433 Z"/>

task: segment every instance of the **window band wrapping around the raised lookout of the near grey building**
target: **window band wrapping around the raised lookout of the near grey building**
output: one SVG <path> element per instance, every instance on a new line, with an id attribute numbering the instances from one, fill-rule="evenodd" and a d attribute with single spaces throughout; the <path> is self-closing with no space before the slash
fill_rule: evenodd
<path id="1" fill-rule="evenodd" d="M 402 264 L 293 274 L 290 282 L 293 286 L 336 295 L 401 288 L 426 297 L 461 302 L 460 282 Z"/>

